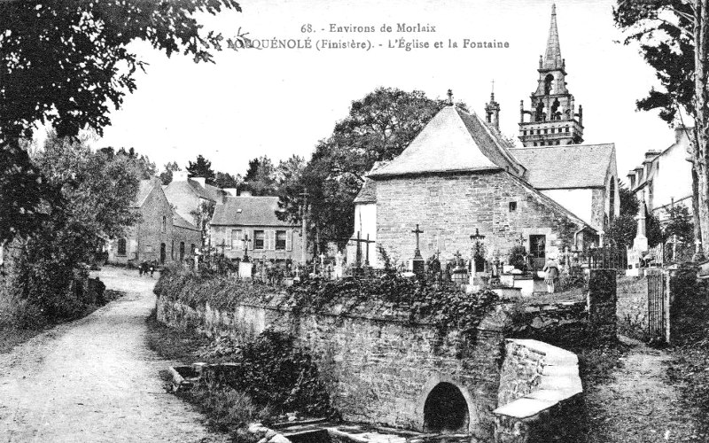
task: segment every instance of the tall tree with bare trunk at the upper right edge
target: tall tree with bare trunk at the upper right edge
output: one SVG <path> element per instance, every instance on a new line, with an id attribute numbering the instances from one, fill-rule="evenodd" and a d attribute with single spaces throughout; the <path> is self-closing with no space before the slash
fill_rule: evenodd
<path id="1" fill-rule="evenodd" d="M 690 136 L 695 237 L 709 247 L 709 0 L 619 0 L 616 25 L 625 43 L 640 43 L 643 57 L 658 72 L 662 90 L 651 89 L 638 109 L 659 109 L 672 123 L 684 113 L 693 118 Z"/>

